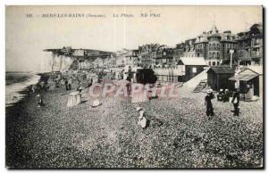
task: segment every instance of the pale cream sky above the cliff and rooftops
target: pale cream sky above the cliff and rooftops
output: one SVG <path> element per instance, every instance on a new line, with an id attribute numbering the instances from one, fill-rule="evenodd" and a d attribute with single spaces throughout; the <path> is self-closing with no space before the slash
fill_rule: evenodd
<path id="1" fill-rule="evenodd" d="M 262 10 L 262 6 L 7 6 L 5 70 L 40 71 L 47 58 L 43 50 L 64 45 L 103 51 L 151 43 L 175 46 L 212 29 L 213 23 L 220 32 L 237 33 L 262 22 Z M 77 13 L 84 17 L 42 17 Z"/>

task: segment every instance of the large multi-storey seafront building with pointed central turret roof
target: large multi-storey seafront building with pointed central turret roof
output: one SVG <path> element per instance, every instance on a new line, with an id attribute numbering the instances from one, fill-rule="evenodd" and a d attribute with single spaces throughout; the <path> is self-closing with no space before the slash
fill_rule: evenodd
<path id="1" fill-rule="evenodd" d="M 177 52 L 184 50 L 183 57 L 204 57 L 209 66 L 228 64 L 237 60 L 238 44 L 230 30 L 222 33 L 214 25 L 208 32 L 178 44 Z"/>

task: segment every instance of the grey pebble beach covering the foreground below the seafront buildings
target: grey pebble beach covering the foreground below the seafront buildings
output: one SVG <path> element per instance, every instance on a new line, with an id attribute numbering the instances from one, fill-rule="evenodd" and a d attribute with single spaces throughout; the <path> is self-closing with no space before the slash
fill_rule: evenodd
<path id="1" fill-rule="evenodd" d="M 76 88 L 73 86 L 72 88 Z M 73 89 L 72 91 L 74 91 Z M 6 108 L 6 166 L 35 168 L 261 168 L 263 102 L 213 100 L 215 116 L 205 115 L 205 93 L 180 87 L 178 98 L 131 103 L 128 98 L 95 100 L 82 91 L 82 103 L 67 107 L 64 86 L 42 92 L 44 107 L 31 94 Z M 136 107 L 145 110 L 147 128 L 138 126 Z"/>

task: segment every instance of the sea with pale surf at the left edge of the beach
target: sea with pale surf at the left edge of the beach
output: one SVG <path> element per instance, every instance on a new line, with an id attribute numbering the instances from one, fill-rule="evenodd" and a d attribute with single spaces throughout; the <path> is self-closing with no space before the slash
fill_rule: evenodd
<path id="1" fill-rule="evenodd" d="M 36 72 L 5 72 L 5 107 L 12 106 L 25 97 L 21 94 L 27 86 L 38 83 L 40 76 Z"/>

